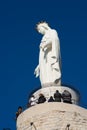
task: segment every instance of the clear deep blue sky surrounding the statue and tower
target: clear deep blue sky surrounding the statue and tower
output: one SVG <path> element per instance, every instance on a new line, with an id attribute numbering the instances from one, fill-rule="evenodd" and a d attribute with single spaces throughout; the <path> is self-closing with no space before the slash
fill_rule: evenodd
<path id="1" fill-rule="evenodd" d="M 41 35 L 37 22 L 45 20 L 57 30 L 61 44 L 62 83 L 81 94 L 87 108 L 87 1 L 0 1 L 0 130 L 16 130 L 18 106 L 40 86 L 33 75 L 38 64 Z"/>

